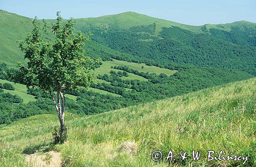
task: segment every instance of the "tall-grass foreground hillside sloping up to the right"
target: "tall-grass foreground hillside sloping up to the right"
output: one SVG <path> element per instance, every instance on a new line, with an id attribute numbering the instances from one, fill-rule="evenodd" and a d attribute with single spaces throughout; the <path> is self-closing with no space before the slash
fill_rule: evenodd
<path id="1" fill-rule="evenodd" d="M 209 161 L 207 151 L 248 156 L 256 165 L 256 78 L 233 82 L 166 100 L 84 118 L 67 114 L 68 141 L 50 144 L 55 115 L 39 115 L 0 128 L 0 165 L 27 166 L 26 153 L 56 150 L 65 166 L 167 166 L 151 160 L 175 153 L 173 165 L 237 166 L 243 161 Z M 181 160 L 180 150 L 188 158 Z M 192 161 L 192 150 L 204 160 Z"/>

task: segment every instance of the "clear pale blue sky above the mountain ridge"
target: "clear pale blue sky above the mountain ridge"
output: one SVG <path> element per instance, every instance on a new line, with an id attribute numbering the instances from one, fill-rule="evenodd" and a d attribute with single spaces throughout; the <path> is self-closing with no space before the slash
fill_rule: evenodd
<path id="1" fill-rule="evenodd" d="M 133 11 L 190 25 L 218 24 L 239 20 L 256 22 L 255 0 L 0 0 L 0 9 L 33 18 L 55 18 L 61 11 L 64 18 L 98 17 Z"/>

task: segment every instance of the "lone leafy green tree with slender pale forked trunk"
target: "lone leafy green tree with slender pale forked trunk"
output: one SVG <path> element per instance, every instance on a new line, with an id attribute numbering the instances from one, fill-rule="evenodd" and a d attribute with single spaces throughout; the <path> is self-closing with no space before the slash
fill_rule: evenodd
<path id="1" fill-rule="evenodd" d="M 66 136 L 65 93 L 78 87 L 89 87 L 95 80 L 92 70 L 97 64 L 97 61 L 83 55 L 83 42 L 88 40 L 88 35 L 75 33 L 74 19 L 63 25 L 61 20 L 57 12 L 57 21 L 51 24 L 53 39 L 47 40 L 46 31 L 42 31 L 46 30 L 46 26 L 41 26 L 34 18 L 32 33 L 25 41 L 19 42 L 28 64 L 19 64 L 19 70 L 14 75 L 17 82 L 50 93 L 60 123 L 58 143 L 63 143 L 61 138 Z M 41 24 L 46 25 L 44 20 Z"/>

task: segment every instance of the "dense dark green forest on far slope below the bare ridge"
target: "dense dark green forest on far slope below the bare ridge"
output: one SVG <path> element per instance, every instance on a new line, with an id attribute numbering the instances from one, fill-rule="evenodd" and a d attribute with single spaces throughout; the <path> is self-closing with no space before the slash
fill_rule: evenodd
<path id="1" fill-rule="evenodd" d="M 253 29 L 242 31 L 233 27 L 230 32 L 210 29 L 210 33 L 196 34 L 174 26 L 164 27 L 156 35 L 155 26 L 153 23 L 129 30 L 113 26 L 105 31 L 90 27 L 82 31 L 91 31 L 93 41 L 136 55 L 137 60 L 225 67 L 256 75 L 256 33 Z"/>

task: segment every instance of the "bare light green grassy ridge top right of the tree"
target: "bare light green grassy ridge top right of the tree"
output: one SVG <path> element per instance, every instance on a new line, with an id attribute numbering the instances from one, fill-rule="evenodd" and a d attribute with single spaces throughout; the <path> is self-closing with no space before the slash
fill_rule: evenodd
<path id="1" fill-rule="evenodd" d="M 82 28 L 88 25 L 94 25 L 97 27 L 102 26 L 102 24 L 110 24 L 115 25 L 120 29 L 130 29 L 134 26 L 142 26 L 149 25 L 152 23 L 156 23 L 156 33 L 159 33 L 162 30 L 162 27 L 172 27 L 177 26 L 181 29 L 188 30 L 194 33 L 203 33 L 202 28 L 204 26 L 208 26 L 209 29 L 220 29 L 225 31 L 230 31 L 232 26 L 249 26 L 255 28 L 255 23 L 249 21 L 235 21 L 232 23 L 225 24 L 204 24 L 204 25 L 187 25 L 182 24 L 170 20 L 165 20 L 161 18 L 155 18 L 151 16 L 147 16 L 144 14 L 136 13 L 136 12 L 123 12 L 114 15 L 106 15 L 100 17 L 91 17 L 91 18 L 77 18 L 77 27 Z"/>

